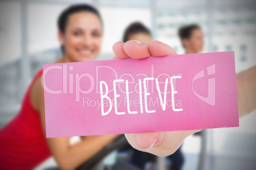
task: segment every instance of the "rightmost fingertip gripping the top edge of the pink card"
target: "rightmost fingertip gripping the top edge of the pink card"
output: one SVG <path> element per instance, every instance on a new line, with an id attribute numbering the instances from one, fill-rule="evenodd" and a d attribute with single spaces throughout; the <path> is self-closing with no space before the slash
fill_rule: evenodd
<path id="1" fill-rule="evenodd" d="M 160 41 L 152 41 L 148 48 L 152 56 L 166 56 L 177 54 L 173 48 Z"/>

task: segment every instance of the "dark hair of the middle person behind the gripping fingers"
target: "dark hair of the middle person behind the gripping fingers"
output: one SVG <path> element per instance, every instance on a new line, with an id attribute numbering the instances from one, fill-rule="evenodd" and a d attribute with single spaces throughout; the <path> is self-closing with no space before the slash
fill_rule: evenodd
<path id="1" fill-rule="evenodd" d="M 137 33 L 144 33 L 151 36 L 150 30 L 147 27 L 145 27 L 143 23 L 133 22 L 125 29 L 123 42 L 128 41 L 129 36 L 131 36 L 131 34 L 137 34 Z"/>

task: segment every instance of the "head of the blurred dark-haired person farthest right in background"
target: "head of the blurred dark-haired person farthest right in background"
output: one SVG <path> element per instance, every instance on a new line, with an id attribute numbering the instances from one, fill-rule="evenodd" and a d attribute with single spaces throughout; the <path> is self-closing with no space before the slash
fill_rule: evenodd
<path id="1" fill-rule="evenodd" d="M 185 54 L 200 53 L 204 48 L 204 32 L 199 25 L 192 24 L 178 30 Z"/>

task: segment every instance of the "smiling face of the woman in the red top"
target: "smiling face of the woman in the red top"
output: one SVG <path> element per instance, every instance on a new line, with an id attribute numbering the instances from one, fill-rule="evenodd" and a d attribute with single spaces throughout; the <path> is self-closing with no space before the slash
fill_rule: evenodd
<path id="1" fill-rule="evenodd" d="M 65 32 L 59 32 L 60 44 L 64 46 L 64 57 L 68 62 L 94 60 L 101 50 L 103 39 L 101 20 L 91 12 L 69 15 Z"/>

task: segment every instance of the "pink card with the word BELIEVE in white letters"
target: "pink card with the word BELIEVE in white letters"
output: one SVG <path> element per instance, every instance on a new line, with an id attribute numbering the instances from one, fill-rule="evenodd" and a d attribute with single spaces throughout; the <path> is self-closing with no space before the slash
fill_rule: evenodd
<path id="1" fill-rule="evenodd" d="M 43 65 L 46 137 L 239 126 L 234 52 Z"/>

